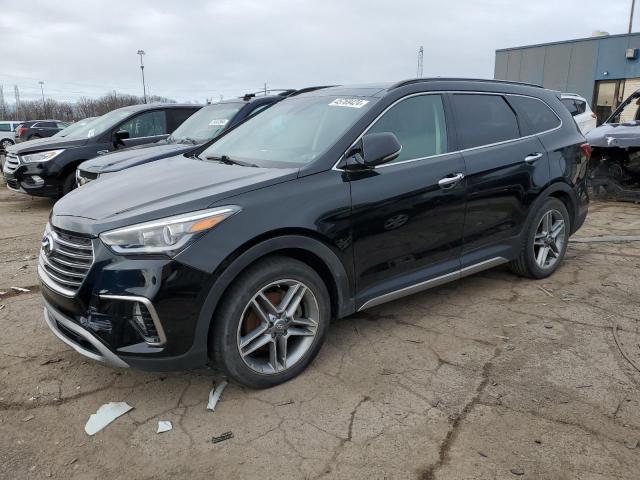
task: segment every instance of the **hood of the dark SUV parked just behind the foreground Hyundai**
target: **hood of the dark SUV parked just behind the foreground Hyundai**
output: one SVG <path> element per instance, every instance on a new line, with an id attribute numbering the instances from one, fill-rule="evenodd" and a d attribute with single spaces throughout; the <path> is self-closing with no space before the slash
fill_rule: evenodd
<path id="1" fill-rule="evenodd" d="M 170 143 L 158 145 L 140 145 L 139 147 L 127 148 L 82 162 L 80 170 L 92 173 L 118 172 L 125 168 L 153 162 L 160 158 L 172 157 L 192 150 L 194 145 L 184 143 Z"/>

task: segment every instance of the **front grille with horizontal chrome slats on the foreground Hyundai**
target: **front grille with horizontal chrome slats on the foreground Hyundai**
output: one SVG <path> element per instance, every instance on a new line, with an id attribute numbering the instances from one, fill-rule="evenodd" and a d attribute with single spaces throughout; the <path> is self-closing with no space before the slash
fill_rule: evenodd
<path id="1" fill-rule="evenodd" d="M 53 284 L 50 286 L 58 292 L 75 294 L 92 264 L 93 244 L 90 238 L 52 229 L 42 240 L 40 267 Z"/>

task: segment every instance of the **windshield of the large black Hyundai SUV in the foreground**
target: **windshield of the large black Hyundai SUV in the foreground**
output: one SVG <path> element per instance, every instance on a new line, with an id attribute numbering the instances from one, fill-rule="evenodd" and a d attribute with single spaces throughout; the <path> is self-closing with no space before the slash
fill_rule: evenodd
<path id="1" fill-rule="evenodd" d="M 283 100 L 227 133 L 202 152 L 261 167 L 291 167 L 326 152 L 377 101 L 362 97 Z"/>

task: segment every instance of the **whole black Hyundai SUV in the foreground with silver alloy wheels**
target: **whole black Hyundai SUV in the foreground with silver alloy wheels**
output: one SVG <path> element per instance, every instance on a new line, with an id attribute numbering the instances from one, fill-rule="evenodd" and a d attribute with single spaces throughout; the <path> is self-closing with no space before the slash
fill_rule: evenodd
<path id="1" fill-rule="evenodd" d="M 189 158 L 53 208 L 44 316 L 80 353 L 269 387 L 329 321 L 501 264 L 545 278 L 583 224 L 590 149 L 559 93 L 419 79 L 287 98 Z"/>

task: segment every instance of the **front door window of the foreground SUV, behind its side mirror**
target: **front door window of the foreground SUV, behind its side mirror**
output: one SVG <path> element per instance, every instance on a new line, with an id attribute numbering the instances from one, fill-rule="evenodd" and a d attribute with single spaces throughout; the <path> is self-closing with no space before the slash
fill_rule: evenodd
<path id="1" fill-rule="evenodd" d="M 402 151 L 394 162 L 446 153 L 447 126 L 440 95 L 419 95 L 391 107 L 367 133 L 391 132 Z"/>

